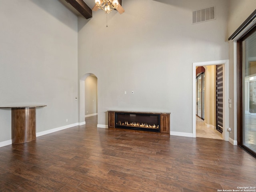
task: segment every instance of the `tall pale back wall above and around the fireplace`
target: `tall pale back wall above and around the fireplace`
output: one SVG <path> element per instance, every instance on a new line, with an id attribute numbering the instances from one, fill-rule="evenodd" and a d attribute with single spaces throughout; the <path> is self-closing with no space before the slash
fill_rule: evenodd
<path id="1" fill-rule="evenodd" d="M 98 77 L 98 124 L 107 124 L 107 110 L 171 112 L 171 132 L 192 133 L 192 63 L 228 59 L 228 1 L 122 6 L 124 14 L 108 14 L 108 28 L 102 10 L 78 18 L 78 78 Z M 209 6 L 216 20 L 192 24 L 192 11 Z"/>

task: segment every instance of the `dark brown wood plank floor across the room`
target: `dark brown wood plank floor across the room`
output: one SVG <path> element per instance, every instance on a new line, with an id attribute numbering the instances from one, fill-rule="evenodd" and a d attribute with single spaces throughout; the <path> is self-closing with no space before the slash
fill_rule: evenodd
<path id="1" fill-rule="evenodd" d="M 0 148 L 0 191 L 217 192 L 256 186 L 256 159 L 223 140 L 86 125 Z"/>

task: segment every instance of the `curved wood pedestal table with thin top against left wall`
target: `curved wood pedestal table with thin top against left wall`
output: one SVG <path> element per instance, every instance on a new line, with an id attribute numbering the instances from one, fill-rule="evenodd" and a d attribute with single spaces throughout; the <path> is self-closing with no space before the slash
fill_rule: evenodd
<path id="1" fill-rule="evenodd" d="M 12 109 L 12 144 L 36 140 L 36 106 L 0 107 Z"/>

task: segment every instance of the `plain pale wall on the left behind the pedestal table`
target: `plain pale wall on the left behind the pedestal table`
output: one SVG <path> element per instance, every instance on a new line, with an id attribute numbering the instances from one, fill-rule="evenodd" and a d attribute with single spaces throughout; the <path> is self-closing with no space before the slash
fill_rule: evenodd
<path id="1" fill-rule="evenodd" d="M 0 5 L 0 106 L 46 104 L 37 132 L 77 123 L 77 16 L 57 0 Z M 0 109 L 0 142 L 10 139 L 11 110 Z"/>

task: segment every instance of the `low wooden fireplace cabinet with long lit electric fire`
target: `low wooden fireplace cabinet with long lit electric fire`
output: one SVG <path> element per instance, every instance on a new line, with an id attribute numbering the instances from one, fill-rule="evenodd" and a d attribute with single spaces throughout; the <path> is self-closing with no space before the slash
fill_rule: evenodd
<path id="1" fill-rule="evenodd" d="M 170 136 L 170 113 L 111 110 L 108 128 Z"/>

